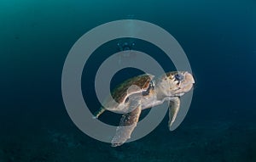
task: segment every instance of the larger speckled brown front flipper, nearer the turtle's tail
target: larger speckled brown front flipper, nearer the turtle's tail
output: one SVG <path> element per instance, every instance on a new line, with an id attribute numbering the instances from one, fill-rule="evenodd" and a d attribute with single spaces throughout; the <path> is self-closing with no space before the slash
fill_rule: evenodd
<path id="1" fill-rule="evenodd" d="M 139 104 L 137 109 L 132 110 L 130 113 L 122 115 L 119 122 L 119 126 L 116 129 L 116 133 L 111 141 L 112 147 L 122 145 L 131 137 L 131 132 L 137 126 L 137 122 L 142 112 L 142 106 Z"/>

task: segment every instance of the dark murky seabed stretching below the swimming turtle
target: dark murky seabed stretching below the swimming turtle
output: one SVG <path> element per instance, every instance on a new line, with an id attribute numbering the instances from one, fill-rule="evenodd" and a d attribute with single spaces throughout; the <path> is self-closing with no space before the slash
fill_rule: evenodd
<path id="1" fill-rule="evenodd" d="M 2 134 L 1 162 L 256 161 L 256 126 L 253 124 L 245 126 L 227 121 L 184 124 L 170 132 L 162 123 L 147 137 L 118 148 L 87 137 L 73 125 L 28 130 Z"/>

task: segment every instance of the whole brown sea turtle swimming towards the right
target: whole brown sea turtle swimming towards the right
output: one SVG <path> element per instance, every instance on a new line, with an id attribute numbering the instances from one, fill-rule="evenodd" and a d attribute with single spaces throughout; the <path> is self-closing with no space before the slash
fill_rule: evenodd
<path id="1" fill-rule="evenodd" d="M 171 126 L 180 107 L 180 97 L 193 87 L 194 78 L 187 71 L 172 71 L 156 78 L 154 75 L 138 75 L 124 81 L 113 89 L 112 97 L 106 99 L 105 107 L 96 112 L 98 118 L 106 109 L 122 113 L 112 146 L 122 145 L 131 137 L 143 109 L 152 108 L 165 101 L 169 102 L 169 122 Z"/>

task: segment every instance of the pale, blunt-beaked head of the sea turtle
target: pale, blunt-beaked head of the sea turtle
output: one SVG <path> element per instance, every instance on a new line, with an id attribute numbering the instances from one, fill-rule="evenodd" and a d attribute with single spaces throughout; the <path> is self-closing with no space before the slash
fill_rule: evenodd
<path id="1" fill-rule="evenodd" d="M 157 81 L 158 95 L 164 97 L 182 96 L 189 92 L 195 83 L 193 75 L 187 71 L 173 71 L 160 77 Z"/>

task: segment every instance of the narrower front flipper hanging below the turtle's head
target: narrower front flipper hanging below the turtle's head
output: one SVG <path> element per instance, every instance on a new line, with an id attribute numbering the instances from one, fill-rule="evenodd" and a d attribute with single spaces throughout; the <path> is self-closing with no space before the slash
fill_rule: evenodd
<path id="1" fill-rule="evenodd" d="M 168 122 L 168 126 L 169 126 L 170 131 L 174 130 L 174 129 L 172 129 L 172 124 L 176 120 L 177 112 L 179 110 L 179 107 L 180 107 L 180 99 L 179 98 L 172 98 L 169 101 L 169 122 Z"/>

